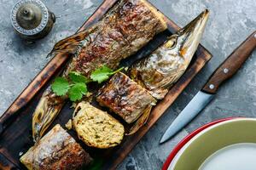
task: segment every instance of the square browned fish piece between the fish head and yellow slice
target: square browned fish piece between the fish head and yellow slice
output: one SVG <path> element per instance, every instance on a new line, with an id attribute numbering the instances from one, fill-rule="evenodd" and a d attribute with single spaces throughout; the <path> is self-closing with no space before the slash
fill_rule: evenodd
<path id="1" fill-rule="evenodd" d="M 148 110 L 148 106 L 155 105 L 156 102 L 146 89 L 121 72 L 113 75 L 99 90 L 96 99 L 100 105 L 107 106 L 127 123 L 135 122 Z"/>

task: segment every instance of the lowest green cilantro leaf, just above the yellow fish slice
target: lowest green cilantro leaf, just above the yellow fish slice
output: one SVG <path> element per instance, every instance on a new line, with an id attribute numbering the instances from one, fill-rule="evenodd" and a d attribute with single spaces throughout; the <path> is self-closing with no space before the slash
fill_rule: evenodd
<path id="1" fill-rule="evenodd" d="M 83 95 L 87 93 L 86 84 L 83 82 L 75 83 L 68 90 L 68 97 L 71 101 L 76 101 L 83 98 Z"/>

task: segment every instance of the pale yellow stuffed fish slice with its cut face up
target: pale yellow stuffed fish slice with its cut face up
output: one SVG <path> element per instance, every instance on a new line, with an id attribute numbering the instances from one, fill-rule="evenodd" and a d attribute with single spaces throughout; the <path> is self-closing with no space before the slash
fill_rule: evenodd
<path id="1" fill-rule="evenodd" d="M 125 134 L 124 126 L 113 116 L 84 102 L 74 111 L 73 127 L 85 144 L 101 149 L 120 144 Z"/>

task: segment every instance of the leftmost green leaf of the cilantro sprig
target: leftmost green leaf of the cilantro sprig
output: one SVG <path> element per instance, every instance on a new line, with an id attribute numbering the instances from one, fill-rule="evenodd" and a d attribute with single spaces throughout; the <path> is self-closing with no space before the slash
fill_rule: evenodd
<path id="1" fill-rule="evenodd" d="M 51 89 L 58 96 L 67 94 L 69 88 L 69 83 L 64 77 L 56 77 L 55 82 L 51 85 Z"/>

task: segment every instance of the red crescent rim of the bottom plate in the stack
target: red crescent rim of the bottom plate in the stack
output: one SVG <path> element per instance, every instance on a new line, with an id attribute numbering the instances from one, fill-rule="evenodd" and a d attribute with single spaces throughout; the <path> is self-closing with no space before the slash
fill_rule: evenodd
<path id="1" fill-rule="evenodd" d="M 211 127 L 212 125 L 215 125 L 219 122 L 229 121 L 231 119 L 238 118 L 238 117 L 228 117 L 224 119 L 219 119 L 217 121 L 209 122 L 206 125 L 197 128 L 194 132 L 189 133 L 184 139 L 182 139 L 172 150 L 171 154 L 167 157 L 166 162 L 164 163 L 162 170 L 167 170 L 170 166 L 173 158 L 177 155 L 177 152 L 183 148 L 185 144 L 189 142 L 190 139 L 192 139 L 196 134 L 200 133 L 202 130 L 206 129 L 207 127 Z"/>

